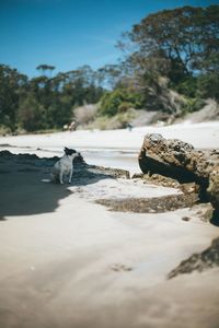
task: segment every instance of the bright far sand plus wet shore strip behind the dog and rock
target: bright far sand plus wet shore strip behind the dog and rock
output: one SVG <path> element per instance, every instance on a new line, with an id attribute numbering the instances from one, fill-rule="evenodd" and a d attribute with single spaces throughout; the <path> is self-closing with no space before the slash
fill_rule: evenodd
<path id="1" fill-rule="evenodd" d="M 93 165 L 118 167 L 140 173 L 138 154 L 147 133 L 161 133 L 164 138 L 181 139 L 196 149 L 219 149 L 219 121 L 177 124 L 166 127 L 139 127 L 132 131 L 77 130 L 47 134 L 0 137 L 0 150 L 32 153 L 41 157 L 61 156 L 65 147 L 77 149 Z"/>

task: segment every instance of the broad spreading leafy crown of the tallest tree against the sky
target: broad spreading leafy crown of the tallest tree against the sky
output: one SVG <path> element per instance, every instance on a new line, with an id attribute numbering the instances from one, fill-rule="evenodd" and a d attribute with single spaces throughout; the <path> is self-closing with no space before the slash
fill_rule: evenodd
<path id="1" fill-rule="evenodd" d="M 180 81 L 212 63 L 219 50 L 219 5 L 183 7 L 145 17 L 118 45 L 143 77 L 151 72 Z"/>

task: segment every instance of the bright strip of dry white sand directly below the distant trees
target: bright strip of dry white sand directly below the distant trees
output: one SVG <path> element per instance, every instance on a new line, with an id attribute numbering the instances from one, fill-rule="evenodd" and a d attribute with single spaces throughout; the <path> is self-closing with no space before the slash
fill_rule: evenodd
<path id="1" fill-rule="evenodd" d="M 78 149 L 120 149 L 139 151 L 146 133 L 161 133 L 164 138 L 178 138 L 196 148 L 219 148 L 219 121 L 184 122 L 166 127 L 141 127 L 132 131 L 125 129 L 107 131 L 74 131 L 54 134 L 0 137 L 1 144 L 54 149 L 73 147 Z"/>

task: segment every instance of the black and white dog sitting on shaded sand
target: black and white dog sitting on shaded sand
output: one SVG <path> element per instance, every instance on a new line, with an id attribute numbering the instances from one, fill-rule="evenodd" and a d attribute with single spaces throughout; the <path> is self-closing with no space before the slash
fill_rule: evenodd
<path id="1" fill-rule="evenodd" d="M 68 176 L 69 184 L 73 174 L 73 160 L 80 156 L 73 149 L 65 148 L 65 155 L 54 165 L 51 177 L 54 181 L 64 184 L 64 177 Z"/>

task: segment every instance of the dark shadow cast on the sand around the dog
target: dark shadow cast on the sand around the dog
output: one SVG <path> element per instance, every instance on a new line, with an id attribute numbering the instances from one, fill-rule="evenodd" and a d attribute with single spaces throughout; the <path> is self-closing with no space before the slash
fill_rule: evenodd
<path id="1" fill-rule="evenodd" d="M 71 195 L 68 189 L 70 185 L 48 183 L 50 167 L 57 159 L 45 160 L 35 155 L 13 155 L 7 152 L 5 156 L 1 155 L 1 160 L 0 221 L 4 221 L 5 216 L 54 212 L 59 207 L 59 201 Z M 88 167 L 85 164 L 78 166 L 72 185 L 94 184 L 111 177 Z"/>

